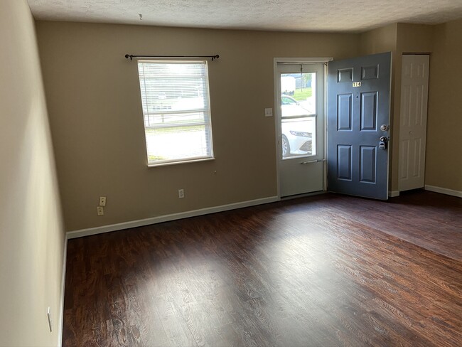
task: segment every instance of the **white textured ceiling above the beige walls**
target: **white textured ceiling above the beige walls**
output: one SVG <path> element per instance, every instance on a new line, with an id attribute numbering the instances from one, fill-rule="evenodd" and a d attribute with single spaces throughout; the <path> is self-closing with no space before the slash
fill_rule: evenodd
<path id="1" fill-rule="evenodd" d="M 462 18 L 462 0 L 28 0 L 39 20 L 361 32 Z M 139 19 L 142 14 L 142 20 Z"/>

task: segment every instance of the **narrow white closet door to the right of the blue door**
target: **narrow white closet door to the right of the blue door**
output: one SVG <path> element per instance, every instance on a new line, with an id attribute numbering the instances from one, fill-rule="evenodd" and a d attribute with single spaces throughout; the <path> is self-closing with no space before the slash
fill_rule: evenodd
<path id="1" fill-rule="evenodd" d="M 403 55 L 399 124 L 399 191 L 425 184 L 429 55 Z"/>

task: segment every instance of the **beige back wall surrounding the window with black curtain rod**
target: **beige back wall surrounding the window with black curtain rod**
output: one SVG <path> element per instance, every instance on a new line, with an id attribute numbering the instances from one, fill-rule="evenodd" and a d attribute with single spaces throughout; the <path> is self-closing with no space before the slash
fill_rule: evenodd
<path id="1" fill-rule="evenodd" d="M 276 196 L 274 117 L 264 117 L 274 57 L 347 58 L 359 48 L 354 34 L 46 21 L 37 30 L 67 230 Z M 220 54 L 209 63 L 215 161 L 146 167 L 137 68 L 126 53 Z"/>

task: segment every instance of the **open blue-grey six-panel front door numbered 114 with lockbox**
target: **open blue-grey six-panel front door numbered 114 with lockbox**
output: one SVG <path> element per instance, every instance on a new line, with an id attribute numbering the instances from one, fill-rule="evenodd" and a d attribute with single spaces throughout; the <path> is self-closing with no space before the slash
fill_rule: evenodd
<path id="1" fill-rule="evenodd" d="M 329 63 L 329 191 L 388 198 L 390 67 L 391 53 Z"/>

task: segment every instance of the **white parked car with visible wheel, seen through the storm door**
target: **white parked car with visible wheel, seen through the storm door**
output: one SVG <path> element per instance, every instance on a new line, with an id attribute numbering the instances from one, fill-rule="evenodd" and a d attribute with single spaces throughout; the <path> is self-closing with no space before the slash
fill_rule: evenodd
<path id="1" fill-rule="evenodd" d="M 308 132 L 313 118 L 301 118 L 312 112 L 302 107 L 288 95 L 281 95 L 282 157 L 310 155 L 313 149 L 313 134 Z"/>

